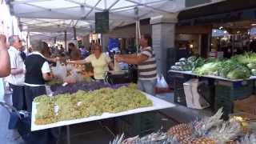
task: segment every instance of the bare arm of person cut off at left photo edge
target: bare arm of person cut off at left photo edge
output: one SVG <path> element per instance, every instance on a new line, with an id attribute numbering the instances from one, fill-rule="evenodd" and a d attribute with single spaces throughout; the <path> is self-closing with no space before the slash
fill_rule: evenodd
<path id="1" fill-rule="evenodd" d="M 10 74 L 10 57 L 6 46 L 6 36 L 0 34 L 0 77 Z"/>

